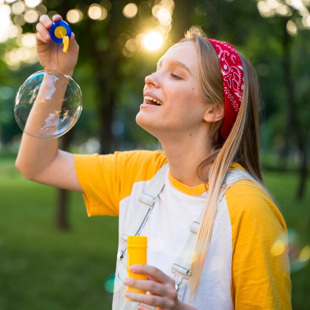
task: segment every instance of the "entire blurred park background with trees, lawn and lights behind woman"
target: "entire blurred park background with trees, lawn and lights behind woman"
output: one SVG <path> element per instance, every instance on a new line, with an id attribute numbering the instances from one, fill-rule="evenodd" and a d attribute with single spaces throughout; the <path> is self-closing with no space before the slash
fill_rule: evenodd
<path id="1" fill-rule="evenodd" d="M 83 112 L 61 140 L 74 153 L 158 149 L 135 123 L 144 77 L 191 25 L 257 70 L 260 154 L 289 230 L 292 304 L 310 309 L 310 0 L 0 0 L 0 310 L 111 309 L 117 218 L 88 218 L 82 196 L 25 180 L 13 104 L 41 70 L 35 25 L 59 13 L 80 46 Z"/>

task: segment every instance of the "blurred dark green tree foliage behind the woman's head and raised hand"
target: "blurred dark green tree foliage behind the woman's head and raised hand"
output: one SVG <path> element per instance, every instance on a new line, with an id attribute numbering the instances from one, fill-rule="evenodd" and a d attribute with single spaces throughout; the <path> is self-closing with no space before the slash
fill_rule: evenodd
<path id="1" fill-rule="evenodd" d="M 96 1 L 95 1 L 96 2 Z M 160 55 L 177 42 L 187 27 L 201 25 L 209 37 L 227 40 L 247 56 L 257 69 L 261 87 L 261 107 L 264 109 L 268 134 L 262 140 L 263 149 L 282 154 L 296 153 L 294 137 L 288 137 L 288 98 L 284 84 L 282 57 L 283 36 L 287 17 L 275 15 L 263 18 L 259 15 L 257 1 L 176 1 L 173 27 L 165 46 L 157 52 L 140 50 L 133 57 L 122 53 L 123 45 L 130 38 L 152 28 L 154 18 L 151 7 L 156 1 L 137 2 L 138 15 L 131 19 L 122 14 L 128 1 L 97 1 L 108 9 L 108 17 L 102 21 L 87 17 L 89 5 L 94 1 L 53 0 L 43 1 L 48 11 L 63 16 L 72 8 L 79 8 L 84 19 L 72 24 L 72 30 L 80 45 L 80 56 L 74 79 L 82 89 L 84 110 L 75 126 L 78 143 L 96 136 L 102 141 L 114 140 L 114 146 L 121 149 L 133 145 L 156 144 L 155 139 L 135 124 L 135 114 L 142 101 L 144 77 L 155 69 Z M 104 3 L 105 4 L 104 4 Z M 157 3 L 157 2 L 156 2 Z M 298 12 L 293 9 L 292 19 L 298 21 Z M 23 31 L 35 32 L 34 24 L 25 24 Z M 308 85 L 310 69 L 310 32 L 300 30 L 291 39 L 292 80 L 294 82 L 298 120 L 301 124 L 305 144 L 309 145 L 310 107 Z M 16 45 L 13 40 L 0 44 L 0 55 L 5 49 Z M 137 70 L 137 68 L 139 68 Z M 18 87 L 40 65 L 23 65 L 11 72 L 0 61 L 0 142 L 11 143 L 20 130 L 12 113 L 13 97 Z M 3 88 L 4 87 L 4 88 Z M 4 93 L 9 93 L 5 95 Z M 6 89 L 5 89 L 6 88 Z M 4 97 L 3 97 L 4 94 Z M 111 126 L 122 124 L 122 133 L 115 135 Z M 285 141 L 279 147 L 279 141 Z M 115 147 L 114 147 L 115 149 Z M 308 149 L 308 154 L 309 154 Z"/>

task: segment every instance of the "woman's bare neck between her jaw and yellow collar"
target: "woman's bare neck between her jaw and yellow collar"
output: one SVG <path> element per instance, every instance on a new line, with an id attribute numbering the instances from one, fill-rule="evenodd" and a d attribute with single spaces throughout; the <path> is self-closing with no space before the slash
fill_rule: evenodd
<path id="1" fill-rule="evenodd" d="M 160 142 L 167 156 L 172 176 L 189 187 L 202 184 L 202 180 L 197 175 L 197 167 L 211 151 L 207 133 L 192 134 L 182 138 L 170 137 L 170 139 L 161 139 Z"/>

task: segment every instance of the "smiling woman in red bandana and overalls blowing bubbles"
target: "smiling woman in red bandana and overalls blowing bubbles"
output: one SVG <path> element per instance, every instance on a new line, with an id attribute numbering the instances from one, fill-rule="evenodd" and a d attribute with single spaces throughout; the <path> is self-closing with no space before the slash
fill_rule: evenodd
<path id="1" fill-rule="evenodd" d="M 41 16 L 40 63 L 72 76 L 74 34 L 65 54 L 51 41 L 51 26 Z M 291 309 L 287 247 L 273 250 L 286 225 L 262 182 L 251 64 L 194 29 L 146 77 L 136 121 L 163 152 L 72 155 L 55 140 L 24 134 L 16 160 L 31 180 L 83 193 L 90 216 L 119 216 L 113 309 Z M 142 205 L 150 208 L 141 217 Z M 131 267 L 148 280 L 124 275 L 131 232 L 148 236 L 148 265 Z"/>

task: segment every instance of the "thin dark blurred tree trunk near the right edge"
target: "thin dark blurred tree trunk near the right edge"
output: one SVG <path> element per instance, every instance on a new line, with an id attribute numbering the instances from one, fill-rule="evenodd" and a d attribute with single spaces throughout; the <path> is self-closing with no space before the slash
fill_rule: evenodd
<path id="1" fill-rule="evenodd" d="M 298 200 L 302 200 L 305 195 L 306 181 L 307 181 L 307 152 L 303 139 L 303 133 L 300 127 L 300 123 L 298 122 L 298 115 L 297 115 L 298 107 L 295 101 L 294 81 L 292 78 L 292 70 L 291 70 L 291 53 L 290 53 L 291 37 L 286 31 L 286 23 L 284 29 L 285 30 L 283 36 L 283 71 L 284 71 L 284 83 L 288 99 L 288 108 L 287 108 L 288 128 L 290 129 L 293 140 L 296 141 L 296 146 L 299 151 L 299 157 L 301 159 L 299 167 L 299 185 L 296 192 L 296 198 Z"/>

